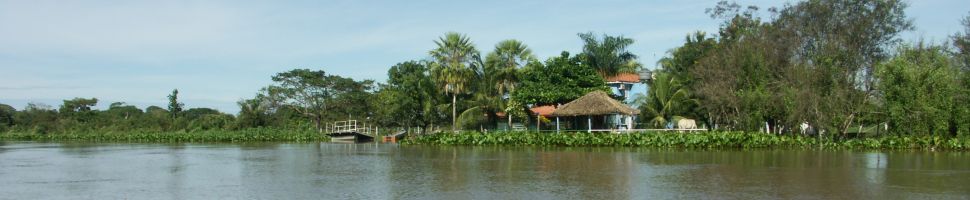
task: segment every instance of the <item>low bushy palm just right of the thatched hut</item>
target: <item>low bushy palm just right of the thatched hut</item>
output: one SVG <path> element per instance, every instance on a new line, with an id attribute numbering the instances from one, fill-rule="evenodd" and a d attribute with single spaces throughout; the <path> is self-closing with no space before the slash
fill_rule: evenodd
<path id="1" fill-rule="evenodd" d="M 668 73 L 658 73 L 650 84 L 646 102 L 641 105 L 644 119 L 649 119 L 654 127 L 663 127 L 667 122 L 683 118 L 689 114 L 692 105 L 699 104 L 691 99 L 687 89 L 679 80 Z"/>

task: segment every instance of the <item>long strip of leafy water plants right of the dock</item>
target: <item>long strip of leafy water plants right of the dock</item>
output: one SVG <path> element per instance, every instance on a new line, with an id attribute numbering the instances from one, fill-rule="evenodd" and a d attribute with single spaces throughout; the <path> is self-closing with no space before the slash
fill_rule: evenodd
<path id="1" fill-rule="evenodd" d="M 535 133 L 462 132 L 436 133 L 409 138 L 402 144 L 422 145 L 527 145 L 527 146 L 625 146 L 662 148 L 844 148 L 970 150 L 970 138 L 934 136 L 882 136 L 833 140 L 826 138 L 772 135 L 751 132 L 641 132 Z"/>

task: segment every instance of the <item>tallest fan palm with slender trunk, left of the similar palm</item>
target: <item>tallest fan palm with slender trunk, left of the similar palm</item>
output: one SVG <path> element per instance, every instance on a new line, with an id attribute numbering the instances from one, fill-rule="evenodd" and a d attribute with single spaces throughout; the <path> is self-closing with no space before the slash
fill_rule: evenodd
<path id="1" fill-rule="evenodd" d="M 451 94 L 451 129 L 456 131 L 458 94 L 465 92 L 469 78 L 474 76 L 478 50 L 467 36 L 456 32 L 448 32 L 434 43 L 438 48 L 429 52 L 435 59 L 432 75 L 445 93 Z"/>

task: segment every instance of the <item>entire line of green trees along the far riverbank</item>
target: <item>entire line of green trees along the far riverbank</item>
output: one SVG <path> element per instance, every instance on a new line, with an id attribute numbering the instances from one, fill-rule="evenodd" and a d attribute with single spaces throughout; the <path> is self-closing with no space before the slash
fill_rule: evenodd
<path id="1" fill-rule="evenodd" d="M 944 43 L 902 41 L 899 34 L 914 27 L 906 7 L 896 0 L 813 0 L 762 12 L 720 2 L 707 10 L 722 21 L 717 33 L 687 34 L 657 63 L 646 95 L 615 98 L 641 109 L 640 128 L 690 118 L 709 128 L 780 134 L 968 135 L 970 17 Z M 581 51 L 539 60 L 521 41 L 482 53 L 466 35 L 450 32 L 434 41 L 428 59 L 392 66 L 386 83 L 294 69 L 239 101 L 236 115 L 182 110 L 177 91 L 167 108 L 144 110 L 124 103 L 93 110 L 94 98 L 65 100 L 57 109 L 0 105 L 0 131 L 324 130 L 347 119 L 422 131 L 494 130 L 500 119 L 548 123 L 528 108 L 609 91 L 605 78 L 642 70 L 627 50 L 632 39 L 578 36 Z"/>

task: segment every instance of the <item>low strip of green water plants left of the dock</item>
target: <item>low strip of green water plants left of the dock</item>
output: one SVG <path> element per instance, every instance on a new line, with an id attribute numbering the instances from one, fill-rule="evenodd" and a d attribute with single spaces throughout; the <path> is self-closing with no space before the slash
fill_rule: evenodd
<path id="1" fill-rule="evenodd" d="M 0 133 L 0 141 L 87 141 L 87 142 L 318 142 L 326 135 L 309 130 L 250 128 L 205 131 L 78 131 L 65 133 Z"/>

